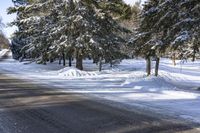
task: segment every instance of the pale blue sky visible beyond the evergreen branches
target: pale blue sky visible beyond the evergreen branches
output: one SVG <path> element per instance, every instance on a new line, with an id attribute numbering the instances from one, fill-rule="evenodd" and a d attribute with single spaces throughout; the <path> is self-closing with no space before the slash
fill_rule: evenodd
<path id="1" fill-rule="evenodd" d="M 124 0 L 128 4 L 134 4 L 137 0 Z M 144 1 L 144 0 L 142 0 Z M 12 0 L 4 0 L 0 4 L 0 16 L 3 18 L 5 24 L 12 22 L 15 19 L 15 14 L 7 15 L 7 8 L 13 6 Z M 4 28 L 5 35 L 10 38 L 12 33 L 16 30 L 16 27 L 6 27 Z"/>

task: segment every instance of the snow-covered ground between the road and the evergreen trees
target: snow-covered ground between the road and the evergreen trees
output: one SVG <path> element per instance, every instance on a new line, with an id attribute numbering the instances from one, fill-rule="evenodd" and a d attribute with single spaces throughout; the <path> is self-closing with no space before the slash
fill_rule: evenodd
<path id="1" fill-rule="evenodd" d="M 19 63 L 13 59 L 0 62 L 0 72 L 45 83 L 69 93 L 83 93 L 112 101 L 117 106 L 139 107 L 164 115 L 200 123 L 200 60 L 177 61 L 161 59 L 159 77 L 145 76 L 145 61 L 124 60 L 121 64 L 98 72 L 92 61 L 84 69 L 63 68 L 58 63 L 38 65 Z M 152 68 L 153 72 L 153 68 Z"/>

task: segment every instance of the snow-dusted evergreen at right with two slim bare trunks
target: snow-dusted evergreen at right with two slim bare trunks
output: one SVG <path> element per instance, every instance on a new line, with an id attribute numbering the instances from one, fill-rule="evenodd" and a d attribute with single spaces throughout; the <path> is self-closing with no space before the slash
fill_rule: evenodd
<path id="1" fill-rule="evenodd" d="M 141 15 L 140 28 L 132 40 L 135 53 L 147 59 L 150 75 L 150 57 L 157 59 L 155 75 L 158 75 L 159 57 L 177 52 L 181 59 L 199 52 L 200 1 L 197 0 L 149 0 Z"/>

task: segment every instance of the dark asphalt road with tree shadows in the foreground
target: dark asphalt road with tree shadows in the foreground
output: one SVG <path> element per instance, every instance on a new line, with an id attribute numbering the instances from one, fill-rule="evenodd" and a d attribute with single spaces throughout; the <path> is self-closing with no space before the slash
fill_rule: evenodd
<path id="1" fill-rule="evenodd" d="M 0 133 L 200 133 L 199 127 L 0 74 Z"/>

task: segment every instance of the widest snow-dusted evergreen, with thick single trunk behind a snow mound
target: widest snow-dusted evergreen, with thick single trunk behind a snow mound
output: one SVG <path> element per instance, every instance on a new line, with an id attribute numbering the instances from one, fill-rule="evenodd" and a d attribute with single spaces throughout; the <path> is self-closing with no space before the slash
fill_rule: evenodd
<path id="1" fill-rule="evenodd" d="M 15 22 L 18 27 L 22 26 L 18 34 L 23 34 L 27 43 L 22 48 L 23 55 L 42 63 L 59 56 L 63 56 L 64 61 L 66 56 L 74 56 L 79 69 L 83 69 L 85 57 L 97 62 L 121 58 L 120 49 L 125 40 L 119 33 L 128 30 L 107 13 L 111 14 L 111 9 L 102 8 L 102 2 L 40 0 L 13 8 L 23 14 Z"/>

